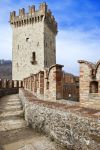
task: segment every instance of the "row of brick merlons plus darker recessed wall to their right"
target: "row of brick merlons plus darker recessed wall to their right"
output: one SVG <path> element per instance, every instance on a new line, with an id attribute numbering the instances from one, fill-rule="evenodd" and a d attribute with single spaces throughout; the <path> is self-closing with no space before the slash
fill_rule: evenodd
<path id="1" fill-rule="evenodd" d="M 62 67 L 62 65 L 55 64 L 49 69 L 31 74 L 24 79 L 24 89 L 44 100 L 79 101 L 79 79 L 71 75 L 66 76 Z"/>

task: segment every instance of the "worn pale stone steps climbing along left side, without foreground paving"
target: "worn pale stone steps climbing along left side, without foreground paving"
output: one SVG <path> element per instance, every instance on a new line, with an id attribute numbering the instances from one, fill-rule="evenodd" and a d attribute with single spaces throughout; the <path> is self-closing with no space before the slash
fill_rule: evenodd
<path id="1" fill-rule="evenodd" d="M 27 127 L 24 112 L 17 94 L 0 99 L 0 131 Z"/>

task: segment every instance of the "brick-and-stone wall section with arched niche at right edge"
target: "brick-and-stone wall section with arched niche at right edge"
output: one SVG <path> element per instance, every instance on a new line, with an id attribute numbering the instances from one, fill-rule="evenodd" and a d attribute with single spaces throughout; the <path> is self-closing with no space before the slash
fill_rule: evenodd
<path id="1" fill-rule="evenodd" d="M 100 61 L 93 64 L 81 60 L 80 63 L 80 101 L 100 100 Z"/>

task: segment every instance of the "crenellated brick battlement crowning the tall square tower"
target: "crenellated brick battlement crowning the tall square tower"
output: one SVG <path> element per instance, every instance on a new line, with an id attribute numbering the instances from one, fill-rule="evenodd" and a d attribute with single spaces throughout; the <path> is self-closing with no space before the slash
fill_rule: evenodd
<path id="1" fill-rule="evenodd" d="M 35 6 L 29 6 L 29 12 L 26 13 L 25 9 L 19 9 L 18 16 L 16 11 L 10 13 L 10 24 L 14 27 L 25 26 L 28 24 L 34 24 L 40 21 L 45 21 L 53 32 L 57 33 L 57 22 L 46 3 L 41 3 L 39 10 L 35 10 Z"/>

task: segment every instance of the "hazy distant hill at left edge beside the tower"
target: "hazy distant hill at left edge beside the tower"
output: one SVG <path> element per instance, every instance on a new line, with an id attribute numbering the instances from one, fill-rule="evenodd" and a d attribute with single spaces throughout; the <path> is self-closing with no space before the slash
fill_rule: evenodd
<path id="1" fill-rule="evenodd" d="M 0 60 L 0 79 L 12 79 L 11 60 Z"/>

